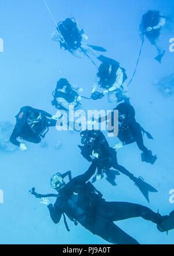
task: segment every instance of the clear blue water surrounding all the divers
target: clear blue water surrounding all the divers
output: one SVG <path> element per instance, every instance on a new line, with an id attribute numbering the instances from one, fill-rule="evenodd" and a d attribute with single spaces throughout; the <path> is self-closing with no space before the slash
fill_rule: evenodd
<path id="1" fill-rule="evenodd" d="M 173 0 L 47 0 L 56 21 L 75 17 L 91 44 L 107 49 L 107 56 L 116 59 L 125 67 L 129 79 L 139 54 L 139 23 L 149 9 L 160 10 L 173 20 Z M 60 50 L 50 35 L 55 28 L 42 0 L 1 0 L 0 37 L 4 52 L 0 52 L 1 121 L 15 123 L 14 116 L 21 106 L 31 105 L 55 114 L 50 104 L 52 91 L 60 77 L 84 88 L 89 95 L 96 67 L 88 58 L 78 59 L 67 51 Z M 135 79 L 129 87 L 131 103 L 136 109 L 137 122 L 153 134 L 154 140 L 144 136 L 144 143 L 158 156 L 154 165 L 143 163 L 136 144 L 118 151 L 118 161 L 136 176 L 143 176 L 158 193 L 150 194 L 146 202 L 137 187 L 124 175 L 117 177 L 117 187 L 105 179 L 96 183 L 108 201 L 128 201 L 143 204 L 155 212 L 168 214 L 174 208 L 169 202 L 169 190 L 174 189 L 173 143 L 174 116 L 173 97 L 164 98 L 153 85 L 163 76 L 173 72 L 174 52 L 169 52 L 169 38 L 174 37 L 172 26 L 162 32 L 161 43 L 166 54 L 162 64 L 154 61 L 155 48 L 146 40 Z M 83 107 L 113 109 L 107 98 L 100 101 L 84 99 Z M 105 133 L 105 135 L 107 135 Z M 27 143 L 28 151 L 12 153 L 1 151 L 0 189 L 4 203 L 0 204 L 1 244 L 103 244 L 81 225 L 68 221 L 67 232 L 63 219 L 55 225 L 48 209 L 31 196 L 28 191 L 35 186 L 41 193 L 50 193 L 49 179 L 56 172 L 71 169 L 73 176 L 85 172 L 89 163 L 82 158 L 77 144 L 79 134 L 50 129 L 46 135 L 48 147 Z M 60 150 L 55 143 L 61 141 Z M 117 138 L 108 138 L 110 145 Z M 54 202 L 54 200 L 52 200 Z M 154 223 L 144 219 L 128 219 L 117 222 L 141 244 L 173 244 L 174 231 L 158 232 Z"/>

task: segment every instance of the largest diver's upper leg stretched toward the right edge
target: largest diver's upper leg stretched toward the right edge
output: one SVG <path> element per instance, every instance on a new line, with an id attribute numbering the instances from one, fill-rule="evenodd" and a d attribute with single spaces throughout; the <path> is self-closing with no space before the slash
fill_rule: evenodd
<path id="1" fill-rule="evenodd" d="M 153 212 L 150 208 L 131 202 L 101 202 L 97 207 L 97 214 L 105 216 L 110 221 L 142 217 L 159 224 L 162 220 L 161 215 Z"/>

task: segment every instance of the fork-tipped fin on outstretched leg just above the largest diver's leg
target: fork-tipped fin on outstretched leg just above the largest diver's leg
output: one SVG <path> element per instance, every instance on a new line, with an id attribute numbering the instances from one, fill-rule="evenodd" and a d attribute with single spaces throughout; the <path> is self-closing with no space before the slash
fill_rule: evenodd
<path id="1" fill-rule="evenodd" d="M 158 192 L 158 190 L 156 190 L 153 186 L 144 182 L 142 177 L 139 177 L 139 178 L 133 177 L 132 180 L 135 182 L 135 185 L 142 192 L 147 202 L 149 202 L 148 192 Z"/>

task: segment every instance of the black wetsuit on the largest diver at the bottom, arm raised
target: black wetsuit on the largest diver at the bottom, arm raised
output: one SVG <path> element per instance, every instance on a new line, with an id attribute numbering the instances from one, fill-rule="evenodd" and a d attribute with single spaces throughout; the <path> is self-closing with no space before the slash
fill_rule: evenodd
<path id="1" fill-rule="evenodd" d="M 65 213 L 69 218 L 81 223 L 93 234 L 113 244 L 138 244 L 133 237 L 126 234 L 114 221 L 142 217 L 154 223 L 161 223 L 161 215 L 139 204 L 129 202 L 106 202 L 102 194 L 94 188 L 90 191 L 88 182 L 96 170 L 96 162 L 83 174 L 70 180 L 59 191 L 54 205 L 49 204 L 50 217 L 59 223 Z M 87 183 L 88 182 L 88 183 Z"/>

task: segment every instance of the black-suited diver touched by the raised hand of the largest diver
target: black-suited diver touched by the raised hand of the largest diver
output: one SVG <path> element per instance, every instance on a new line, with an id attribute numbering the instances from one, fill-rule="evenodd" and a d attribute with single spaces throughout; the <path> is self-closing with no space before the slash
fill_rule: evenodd
<path id="1" fill-rule="evenodd" d="M 106 173 L 107 181 L 113 186 L 117 185 L 115 183 L 115 176 L 119 175 L 119 172 L 128 176 L 139 190 L 142 192 L 146 200 L 149 202 L 148 192 L 157 192 L 157 190 L 144 182 L 142 177 L 135 177 L 131 172 L 126 170 L 123 166 L 119 165 L 117 162 L 117 152 L 114 148 L 110 147 L 104 134 L 100 130 L 84 130 L 81 131 L 81 144 L 78 147 L 81 149 L 82 156 L 92 162 L 92 155 L 95 153 L 98 155 L 97 162 L 97 174 L 93 177 L 92 183 L 96 180 L 100 180 L 104 177 Z M 116 170 L 113 170 L 114 168 Z"/>

